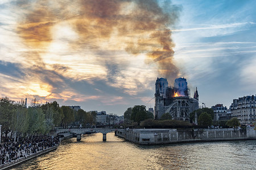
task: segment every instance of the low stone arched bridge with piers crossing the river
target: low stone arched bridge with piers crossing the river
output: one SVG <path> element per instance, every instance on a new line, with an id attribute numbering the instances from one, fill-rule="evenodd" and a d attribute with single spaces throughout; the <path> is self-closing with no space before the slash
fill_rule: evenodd
<path id="1" fill-rule="evenodd" d="M 89 132 L 93 132 L 93 133 L 102 133 L 103 134 L 103 141 L 106 141 L 106 134 L 108 134 L 108 132 L 112 132 L 112 131 L 117 131 L 117 129 L 115 128 L 69 128 L 69 129 L 57 129 L 56 130 L 56 134 L 60 134 L 60 133 L 64 133 L 64 132 L 70 132 L 73 134 L 76 134 L 76 139 L 77 140 L 81 140 L 81 135 L 82 134 L 88 134 Z"/>

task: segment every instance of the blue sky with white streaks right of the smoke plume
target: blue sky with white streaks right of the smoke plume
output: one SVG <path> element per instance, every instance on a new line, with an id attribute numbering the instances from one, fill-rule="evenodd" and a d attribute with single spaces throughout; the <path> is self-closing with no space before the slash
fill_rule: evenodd
<path id="1" fill-rule="evenodd" d="M 256 93 L 255 1 L 173 1 L 183 10 L 175 59 L 200 101 L 229 106 Z"/>

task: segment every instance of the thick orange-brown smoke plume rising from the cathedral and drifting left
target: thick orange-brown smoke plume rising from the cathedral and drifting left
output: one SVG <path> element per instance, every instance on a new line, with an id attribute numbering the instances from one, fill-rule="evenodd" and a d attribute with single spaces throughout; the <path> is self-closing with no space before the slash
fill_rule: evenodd
<path id="1" fill-rule="evenodd" d="M 52 42 L 52 28 L 67 22 L 79 35 L 69 43 L 73 49 L 102 50 L 102 43 L 111 39 L 106 50 L 146 54 L 148 64 L 158 64 L 159 76 L 176 78 L 179 73 L 173 63 L 170 27 L 176 23 L 180 7 L 170 1 L 159 5 L 154 0 L 40 0 L 20 1 L 18 7 L 24 9 L 24 18 L 17 32 L 34 50 L 43 52 Z"/>

